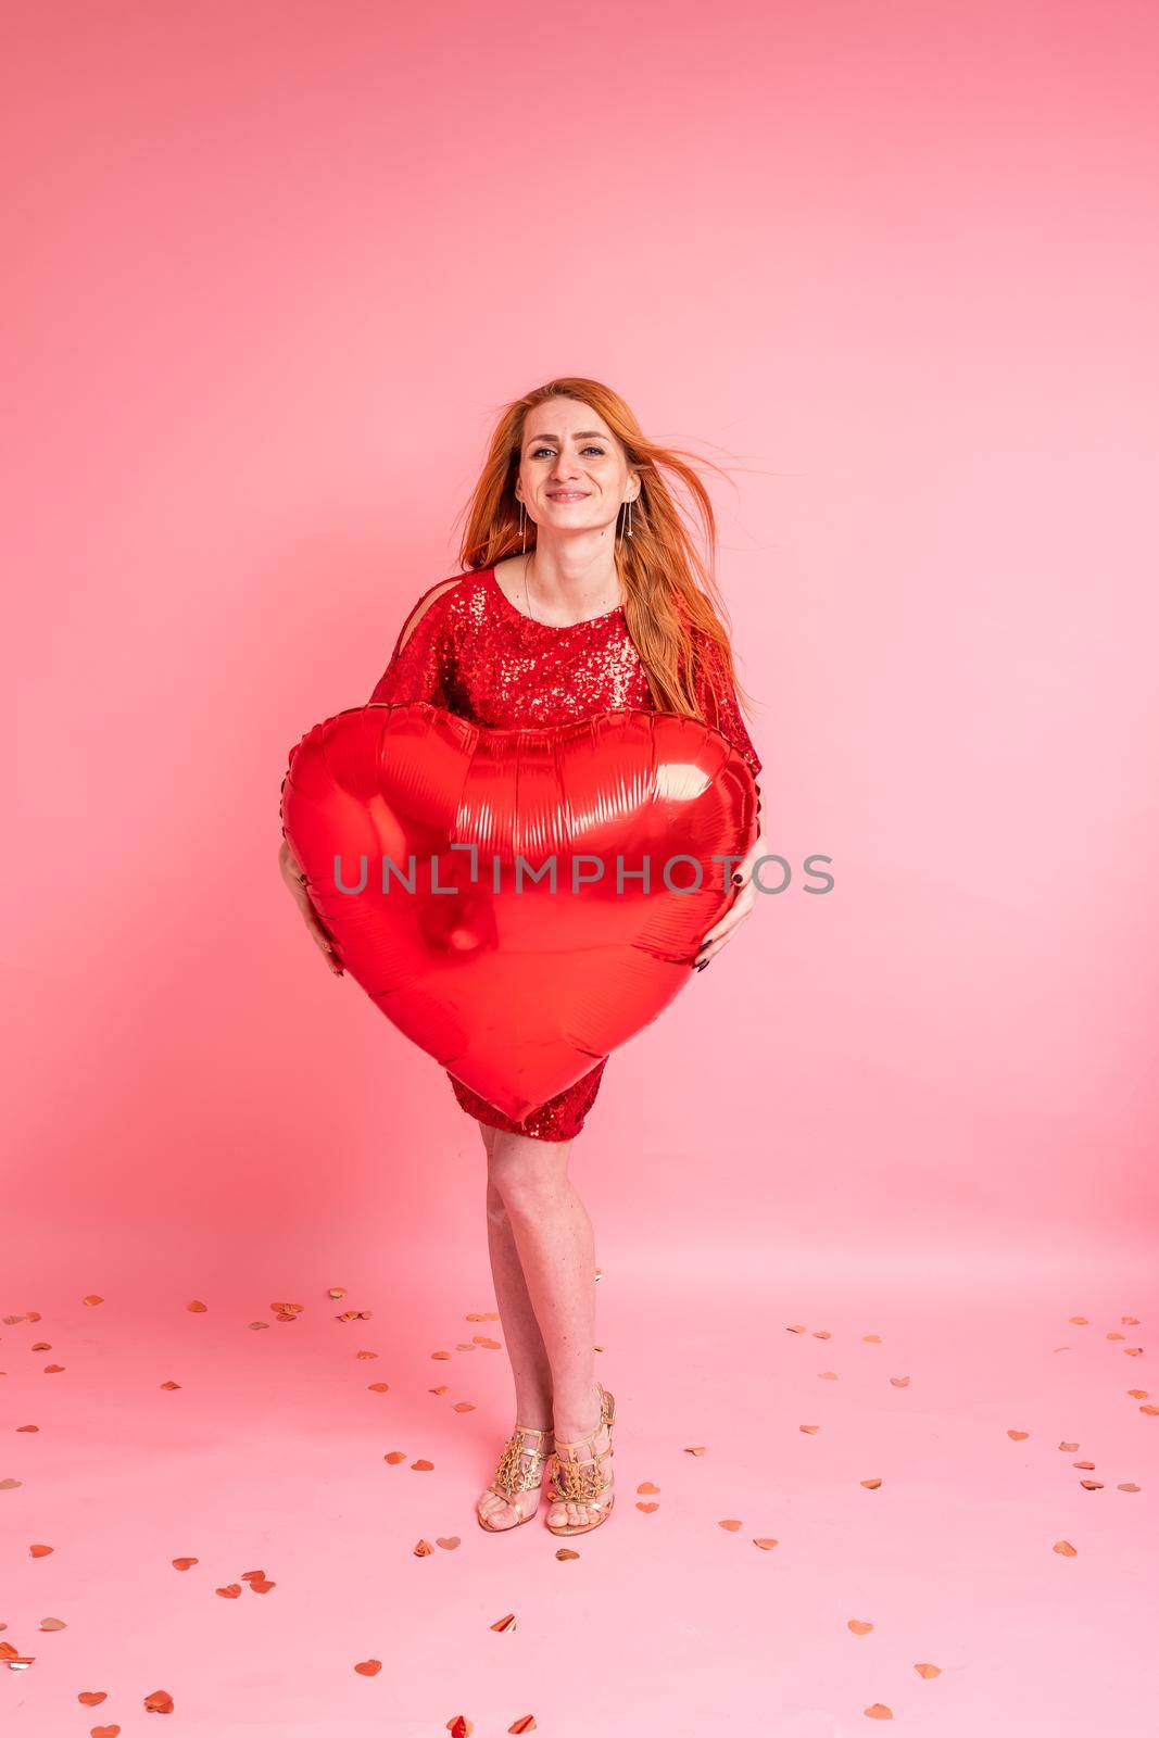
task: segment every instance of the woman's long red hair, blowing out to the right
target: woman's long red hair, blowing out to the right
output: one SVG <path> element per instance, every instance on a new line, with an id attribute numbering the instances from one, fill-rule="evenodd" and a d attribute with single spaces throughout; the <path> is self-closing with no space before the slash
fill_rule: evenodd
<path id="1" fill-rule="evenodd" d="M 506 556 L 520 554 L 520 502 L 514 483 L 523 452 L 523 428 L 533 405 L 549 398 L 577 398 L 591 405 L 624 448 L 632 471 L 639 473 L 639 495 L 632 502 L 632 535 L 615 539 L 615 565 L 624 586 L 624 614 L 639 660 L 648 674 L 652 699 L 659 711 L 699 718 L 692 687 L 695 641 L 692 627 L 700 627 L 719 652 L 738 699 L 749 697 L 737 681 L 725 600 L 716 584 L 716 516 L 709 494 L 697 476 L 695 459 L 676 447 L 660 447 L 619 393 L 599 381 L 577 375 L 547 381 L 507 405 L 495 424 L 487 462 L 467 504 L 467 523 L 459 549 L 464 570 L 488 568 Z M 697 547 L 666 473 L 676 476 L 692 497 L 702 528 L 704 553 Z M 626 511 L 626 509 L 622 509 Z M 533 521 L 528 520 L 533 537 Z M 533 542 L 532 542 L 533 547 Z M 709 683 L 711 683 L 709 674 Z"/>

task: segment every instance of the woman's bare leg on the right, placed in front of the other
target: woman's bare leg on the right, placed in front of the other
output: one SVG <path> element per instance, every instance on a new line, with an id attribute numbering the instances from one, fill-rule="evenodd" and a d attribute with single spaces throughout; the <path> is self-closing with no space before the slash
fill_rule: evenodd
<path id="1" fill-rule="evenodd" d="M 547 1359 L 554 1430 L 563 1443 L 575 1443 L 599 1423 L 596 1241 L 587 1208 L 568 1177 L 570 1151 L 570 1140 L 533 1140 L 497 1130 L 488 1154 L 488 1189 L 493 1185 L 502 1201 L 518 1251 L 525 1293 Z M 509 1350 L 514 1361 L 516 1350 L 527 1356 L 527 1343 L 509 1345 Z M 528 1387 L 528 1403 L 532 1394 L 539 1397 L 542 1389 Z M 521 1416 L 520 1422 L 540 1420 Z M 608 1434 L 601 1429 L 594 1451 L 606 1446 Z M 610 1462 L 605 1465 L 610 1472 Z M 601 1507 L 606 1507 L 606 1496 L 596 1509 L 582 1502 L 558 1502 L 547 1519 L 556 1526 L 582 1526 L 594 1521 Z"/>

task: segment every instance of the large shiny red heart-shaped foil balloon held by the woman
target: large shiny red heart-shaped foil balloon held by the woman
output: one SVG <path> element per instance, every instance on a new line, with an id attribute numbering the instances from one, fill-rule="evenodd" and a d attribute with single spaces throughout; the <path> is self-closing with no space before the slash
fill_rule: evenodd
<path id="1" fill-rule="evenodd" d="M 281 831 L 349 975 L 521 1121 L 688 982 L 758 794 L 695 718 L 490 730 L 412 700 L 315 725 Z"/>

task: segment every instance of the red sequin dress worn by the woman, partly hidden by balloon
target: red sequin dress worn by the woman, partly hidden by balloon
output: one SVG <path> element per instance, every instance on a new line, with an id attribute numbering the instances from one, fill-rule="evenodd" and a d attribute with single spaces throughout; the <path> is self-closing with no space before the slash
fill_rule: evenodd
<path id="1" fill-rule="evenodd" d="M 422 612 L 431 598 L 434 601 Z M 415 615 L 421 620 L 400 652 Z M 740 718 L 737 693 L 716 660 L 716 647 L 699 627 L 693 627 L 693 641 L 699 653 L 693 688 L 702 716 L 740 749 L 756 777 L 761 761 Z M 716 692 L 709 683 L 711 662 Z M 652 711 L 655 706 L 624 605 L 570 627 L 553 627 L 511 603 L 493 567 L 438 580 L 410 610 L 391 662 L 370 695 L 370 704 L 405 700 L 429 700 L 459 718 L 500 730 L 551 728 L 596 713 Z M 460 1107 L 476 1121 L 539 1140 L 572 1140 L 584 1126 L 606 1060 L 603 1057 L 572 1086 L 537 1105 L 523 1123 L 513 1123 L 450 1071 L 447 1078 Z"/>

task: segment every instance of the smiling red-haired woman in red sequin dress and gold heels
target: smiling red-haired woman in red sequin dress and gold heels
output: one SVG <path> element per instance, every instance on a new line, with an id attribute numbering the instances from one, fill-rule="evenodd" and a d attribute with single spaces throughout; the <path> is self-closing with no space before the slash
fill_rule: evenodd
<path id="1" fill-rule="evenodd" d="M 429 700 L 497 728 L 553 726 L 619 707 L 695 714 L 759 773 L 711 601 L 716 586 L 662 466 L 690 488 L 712 553 L 716 525 L 700 480 L 679 454 L 645 438 L 617 393 L 560 379 L 516 400 L 474 490 L 466 570 L 421 594 L 370 702 Z M 738 893 L 704 937 L 699 970 L 752 911 L 763 806 L 759 836 L 733 874 Z M 285 843 L 283 872 L 341 972 Z M 487 1234 L 514 1373 L 518 1422 L 476 1507 L 490 1531 L 530 1521 L 544 1483 L 553 1533 L 587 1533 L 612 1512 L 615 1401 L 594 1376 L 593 1225 L 568 1178 L 572 1142 L 605 1064 L 521 1124 L 448 1076 L 487 1149 Z"/>

